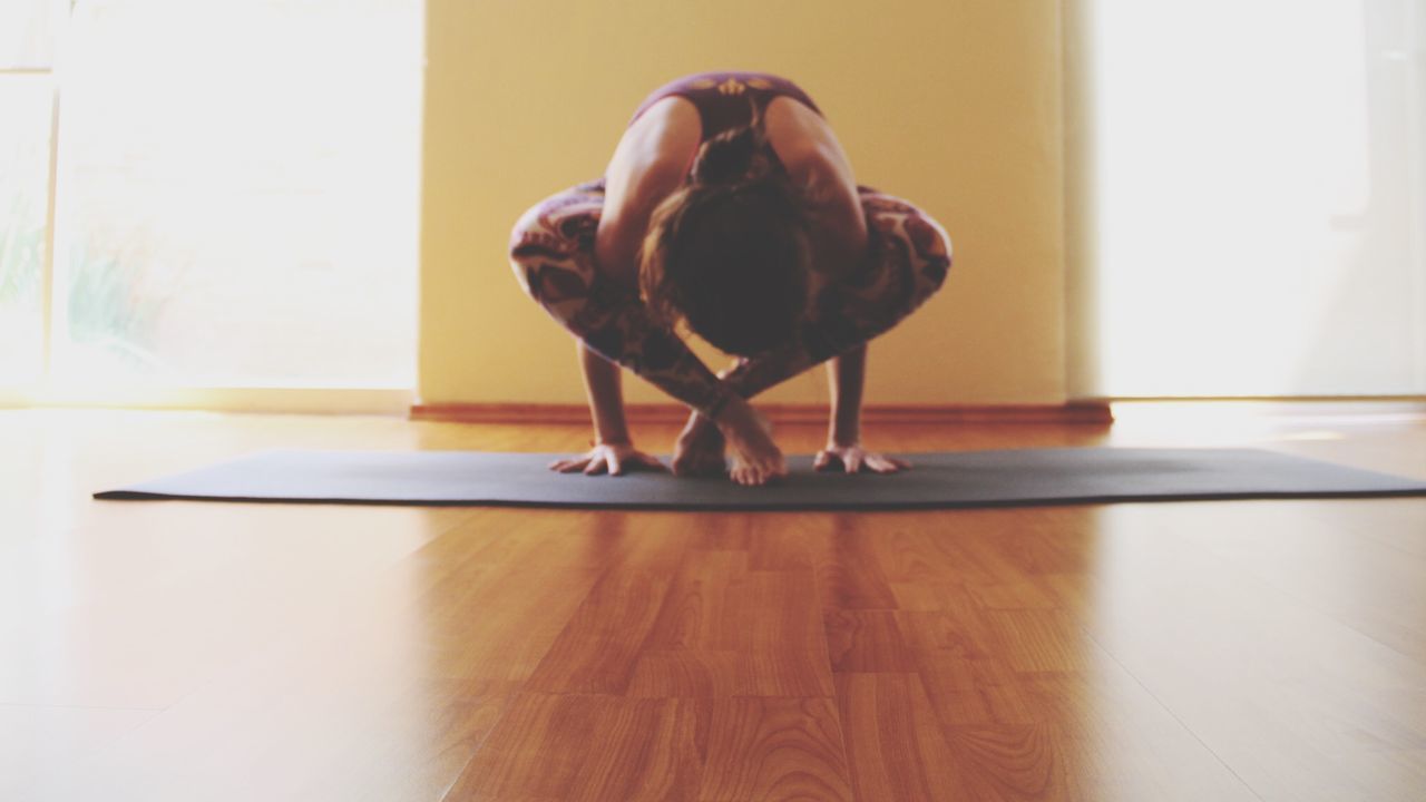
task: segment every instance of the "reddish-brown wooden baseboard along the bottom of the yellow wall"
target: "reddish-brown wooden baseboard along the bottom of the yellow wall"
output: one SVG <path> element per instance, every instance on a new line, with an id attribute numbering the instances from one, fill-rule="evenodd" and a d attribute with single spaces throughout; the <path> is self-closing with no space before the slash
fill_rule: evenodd
<path id="1" fill-rule="evenodd" d="M 826 424 L 826 404 L 757 404 L 774 424 Z M 679 404 L 629 404 L 630 424 L 682 424 L 689 411 Z M 414 404 L 414 421 L 462 424 L 588 424 L 583 404 Z M 871 404 L 861 411 L 868 425 L 887 424 L 1091 424 L 1108 425 L 1105 402 L 1072 404 Z"/>

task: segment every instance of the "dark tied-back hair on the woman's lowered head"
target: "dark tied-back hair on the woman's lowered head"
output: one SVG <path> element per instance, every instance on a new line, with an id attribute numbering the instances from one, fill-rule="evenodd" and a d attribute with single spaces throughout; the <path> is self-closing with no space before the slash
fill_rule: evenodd
<path id="1" fill-rule="evenodd" d="M 655 210 L 639 285 L 655 318 L 744 357 L 791 340 L 807 311 L 807 200 L 761 126 L 699 150 L 689 181 Z"/>

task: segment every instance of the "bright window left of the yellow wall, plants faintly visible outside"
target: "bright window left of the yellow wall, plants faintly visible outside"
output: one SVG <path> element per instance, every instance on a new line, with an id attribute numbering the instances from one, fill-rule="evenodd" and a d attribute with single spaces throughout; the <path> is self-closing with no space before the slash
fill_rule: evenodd
<path id="1" fill-rule="evenodd" d="M 29 372 L 0 382 L 33 375 L 39 310 L 48 381 L 100 394 L 412 387 L 421 1 L 58 9 L 53 301 L 29 288 L 34 257 L 6 257 L 0 304 L 23 314 L 4 325 L 31 334 L 6 338 Z M 31 238 L 48 100 L 0 94 L 0 117 L 26 120 L 0 130 L 0 170 L 27 180 L 3 231 Z"/>

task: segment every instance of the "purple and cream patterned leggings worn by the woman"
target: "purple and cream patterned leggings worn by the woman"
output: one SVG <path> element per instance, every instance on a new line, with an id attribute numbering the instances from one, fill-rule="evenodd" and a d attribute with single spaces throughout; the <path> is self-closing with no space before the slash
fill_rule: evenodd
<path id="1" fill-rule="evenodd" d="M 951 241 L 910 203 L 858 187 L 867 215 L 868 257 L 844 281 L 821 287 L 800 335 L 743 360 L 722 380 L 666 327 L 649 318 L 635 288 L 595 270 L 595 231 L 603 181 L 549 197 L 526 211 L 511 235 L 511 265 L 520 287 L 590 350 L 704 414 L 729 392 L 752 398 L 900 323 L 945 281 Z"/>

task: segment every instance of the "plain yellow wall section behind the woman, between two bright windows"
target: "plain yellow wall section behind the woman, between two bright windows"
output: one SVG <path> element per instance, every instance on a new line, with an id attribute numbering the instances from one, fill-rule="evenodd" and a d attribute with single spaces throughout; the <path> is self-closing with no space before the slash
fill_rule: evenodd
<path id="1" fill-rule="evenodd" d="M 873 345 L 867 402 L 1064 401 L 1060 6 L 428 0 L 422 401 L 583 400 L 573 341 L 506 263 L 511 225 L 599 176 L 645 94 L 717 68 L 797 81 L 861 183 L 951 234 L 947 285 Z M 821 371 L 764 398 L 823 401 Z"/>

